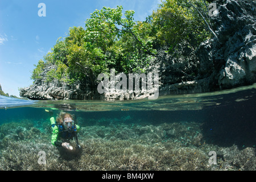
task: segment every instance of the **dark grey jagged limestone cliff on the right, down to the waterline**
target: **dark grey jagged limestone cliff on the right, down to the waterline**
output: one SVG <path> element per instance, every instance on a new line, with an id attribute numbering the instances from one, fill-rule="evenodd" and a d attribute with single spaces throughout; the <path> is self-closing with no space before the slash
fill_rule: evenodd
<path id="1" fill-rule="evenodd" d="M 197 76 L 193 80 L 182 74 L 179 77 L 174 74 L 174 67 L 164 64 L 169 58 L 163 56 L 155 63 L 162 83 L 160 95 L 212 92 L 256 82 L 256 2 L 214 2 L 218 14 L 212 21 L 217 39 L 207 40 L 195 55 L 188 56 L 199 61 L 194 61 Z"/>

